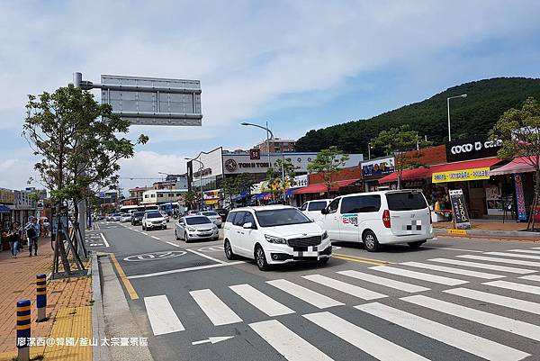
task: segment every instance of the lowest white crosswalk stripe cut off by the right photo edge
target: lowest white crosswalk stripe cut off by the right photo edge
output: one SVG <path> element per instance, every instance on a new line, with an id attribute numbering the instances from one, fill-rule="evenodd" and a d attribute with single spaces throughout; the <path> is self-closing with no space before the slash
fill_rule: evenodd
<path id="1" fill-rule="evenodd" d="M 490 326 L 494 329 L 502 329 L 503 331 L 514 333 L 523 336 L 524 338 L 531 338 L 536 341 L 540 340 L 540 326 L 521 320 L 513 320 L 508 317 L 475 310 L 452 302 L 437 300 L 421 294 L 403 297 L 401 300 L 418 304 L 419 306 L 427 307 L 428 309 L 443 312 L 451 316 L 460 317 L 465 320 L 472 320 L 473 322 Z"/>

